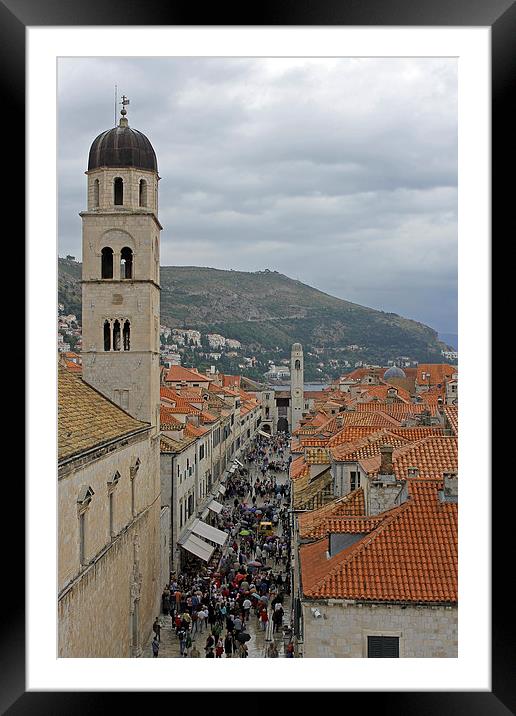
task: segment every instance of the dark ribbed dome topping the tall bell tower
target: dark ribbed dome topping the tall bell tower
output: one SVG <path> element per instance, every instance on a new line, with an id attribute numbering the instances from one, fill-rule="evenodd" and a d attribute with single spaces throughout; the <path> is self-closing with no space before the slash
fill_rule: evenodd
<path id="1" fill-rule="evenodd" d="M 157 172 L 158 162 L 145 134 L 129 127 L 123 117 L 118 127 L 102 132 L 91 145 L 88 170 L 99 167 L 135 167 Z"/>

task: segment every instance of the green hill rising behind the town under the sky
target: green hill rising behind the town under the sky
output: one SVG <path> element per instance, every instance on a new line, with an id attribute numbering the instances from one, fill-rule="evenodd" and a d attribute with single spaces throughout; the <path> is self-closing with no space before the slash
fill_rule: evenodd
<path id="1" fill-rule="evenodd" d="M 59 301 L 78 315 L 80 271 L 80 263 L 59 259 Z M 248 354 L 272 352 L 277 359 L 299 341 L 305 354 L 323 355 L 319 360 L 325 364 L 332 358 L 385 364 L 400 355 L 442 361 L 443 344 L 432 328 L 330 296 L 276 271 L 164 266 L 161 323 L 221 333 L 241 341 Z M 360 349 L 346 349 L 350 345 Z"/>

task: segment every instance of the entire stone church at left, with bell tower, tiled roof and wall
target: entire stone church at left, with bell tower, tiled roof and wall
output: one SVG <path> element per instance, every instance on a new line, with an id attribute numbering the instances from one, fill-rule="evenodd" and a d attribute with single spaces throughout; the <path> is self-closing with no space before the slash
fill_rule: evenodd
<path id="1" fill-rule="evenodd" d="M 93 142 L 83 221 L 83 376 L 59 369 L 58 643 L 136 657 L 159 614 L 158 169 L 119 125 Z"/>

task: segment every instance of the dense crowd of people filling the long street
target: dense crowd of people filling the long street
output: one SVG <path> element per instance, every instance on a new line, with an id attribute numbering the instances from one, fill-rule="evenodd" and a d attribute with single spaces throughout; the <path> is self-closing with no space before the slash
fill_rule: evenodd
<path id="1" fill-rule="evenodd" d="M 271 464 L 288 470 L 287 445 L 281 434 L 270 439 L 257 436 L 239 458 L 245 464 L 225 483 L 226 504 L 217 524 L 229 538 L 215 570 L 182 569 L 163 590 L 162 613 L 171 619 L 181 657 L 246 658 L 253 619 L 258 630 L 272 634 L 266 656 L 278 656 L 274 634 L 285 637 L 285 656 L 294 655 L 291 630 L 284 624 L 291 587 L 290 488 L 269 474 Z M 156 618 L 155 657 L 161 629 Z"/>

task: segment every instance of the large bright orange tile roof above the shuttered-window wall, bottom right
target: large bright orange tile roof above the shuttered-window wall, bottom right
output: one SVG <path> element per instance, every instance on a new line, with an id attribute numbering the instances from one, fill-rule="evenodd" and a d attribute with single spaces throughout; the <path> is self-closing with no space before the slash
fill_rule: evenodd
<path id="1" fill-rule="evenodd" d="M 328 540 L 301 546 L 308 598 L 456 604 L 457 504 L 442 503 L 440 480 L 410 480 L 409 499 L 376 529 L 327 559 Z"/>

